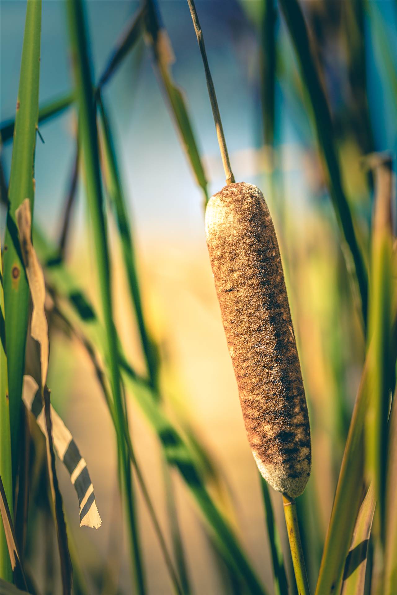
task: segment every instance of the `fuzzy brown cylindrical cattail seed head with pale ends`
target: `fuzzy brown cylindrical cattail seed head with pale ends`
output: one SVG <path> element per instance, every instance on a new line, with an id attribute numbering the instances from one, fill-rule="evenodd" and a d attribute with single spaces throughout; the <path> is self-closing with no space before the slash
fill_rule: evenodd
<path id="1" fill-rule="evenodd" d="M 310 425 L 276 233 L 261 191 L 210 199 L 208 252 L 248 441 L 262 477 L 290 497 L 310 475 Z"/>

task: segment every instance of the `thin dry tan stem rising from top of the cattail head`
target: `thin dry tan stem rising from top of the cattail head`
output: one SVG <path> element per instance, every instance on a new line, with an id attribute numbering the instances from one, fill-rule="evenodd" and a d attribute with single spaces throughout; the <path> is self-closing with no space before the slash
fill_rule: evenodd
<path id="1" fill-rule="evenodd" d="M 215 129 L 217 130 L 217 137 L 219 148 L 221 152 L 221 158 L 223 163 L 223 169 L 226 176 L 226 184 L 234 184 L 235 176 L 233 176 L 232 168 L 230 167 L 229 154 L 227 153 L 226 140 L 223 133 L 223 127 L 221 122 L 221 115 L 219 113 L 217 96 L 215 95 L 214 83 L 212 82 L 212 76 L 210 67 L 207 60 L 207 52 L 205 51 L 204 37 L 197 16 L 194 0 L 187 0 L 189 4 L 190 14 L 192 15 L 193 26 L 195 28 L 202 61 L 204 63 L 205 77 L 207 79 L 208 95 L 210 95 L 212 114 L 214 114 Z"/>

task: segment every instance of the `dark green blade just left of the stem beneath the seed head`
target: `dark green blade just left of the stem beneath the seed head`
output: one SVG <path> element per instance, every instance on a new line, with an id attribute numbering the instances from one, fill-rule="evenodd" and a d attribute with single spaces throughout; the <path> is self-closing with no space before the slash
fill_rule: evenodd
<path id="1" fill-rule="evenodd" d="M 286 595 L 288 593 L 288 583 L 284 568 L 284 558 L 280 535 L 279 531 L 277 530 L 276 521 L 274 519 L 273 506 L 271 505 L 267 482 L 264 480 L 261 474 L 259 474 L 259 476 L 265 509 L 267 535 L 270 544 L 271 563 L 273 565 L 274 593 L 276 595 Z"/>

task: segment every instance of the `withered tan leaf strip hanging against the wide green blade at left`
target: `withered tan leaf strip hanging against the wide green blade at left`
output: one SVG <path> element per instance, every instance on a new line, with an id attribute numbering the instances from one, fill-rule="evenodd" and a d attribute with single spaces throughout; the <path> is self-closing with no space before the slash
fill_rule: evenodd
<path id="1" fill-rule="evenodd" d="M 30 323 L 30 334 L 40 345 L 41 385 L 44 389 L 48 372 L 48 324 L 45 317 L 45 281 L 43 270 L 32 244 L 32 214 L 30 212 L 29 198 L 15 211 L 19 240 L 23 260 L 26 268 L 27 281 L 30 295 L 32 296 L 33 312 Z"/>

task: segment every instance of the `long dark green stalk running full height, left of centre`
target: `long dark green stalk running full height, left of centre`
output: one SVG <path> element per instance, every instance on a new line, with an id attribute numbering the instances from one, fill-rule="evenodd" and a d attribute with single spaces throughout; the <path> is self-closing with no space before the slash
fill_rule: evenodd
<path id="1" fill-rule="evenodd" d="M 107 244 L 107 230 L 104 218 L 101 171 L 99 167 L 98 131 L 96 129 L 96 109 L 93 96 L 92 76 L 90 72 L 86 27 L 81 0 L 67 0 L 67 14 L 73 52 L 74 76 L 76 77 L 77 101 L 79 104 L 80 134 L 86 173 L 87 200 L 92 222 L 95 243 L 99 287 L 102 298 L 102 313 L 107 339 L 107 361 L 115 409 L 115 429 L 118 450 L 121 455 L 123 486 L 126 490 L 127 516 L 129 516 L 130 537 L 132 541 L 135 568 L 135 582 L 138 593 L 145 593 L 140 549 L 137 544 L 136 527 L 131 514 L 133 502 L 129 478 L 129 461 L 123 439 L 124 412 L 121 398 L 120 371 L 118 369 L 118 342 L 112 318 L 112 296 L 110 281 L 110 258 Z"/>

